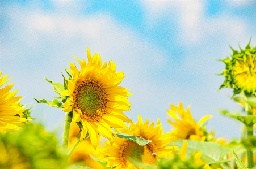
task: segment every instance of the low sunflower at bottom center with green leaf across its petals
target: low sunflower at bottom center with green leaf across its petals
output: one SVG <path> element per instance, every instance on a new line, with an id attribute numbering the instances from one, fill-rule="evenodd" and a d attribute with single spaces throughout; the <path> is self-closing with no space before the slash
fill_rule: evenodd
<path id="1" fill-rule="evenodd" d="M 108 162 L 107 167 L 136 168 L 132 161 L 142 162 L 145 164 L 157 164 L 157 159 L 170 157 L 173 152 L 172 146 L 167 146 L 173 140 L 172 133 L 163 134 L 160 120 L 154 127 L 154 122 L 149 125 L 149 119 L 143 123 L 141 116 L 136 124 L 131 123 L 129 129 L 116 129 L 117 132 L 127 133 L 136 137 L 142 137 L 146 140 L 152 140 L 149 144 L 140 146 L 135 142 L 115 137 L 114 144 L 111 146 L 106 142 L 106 147 L 102 152 L 109 157 L 105 160 Z"/>

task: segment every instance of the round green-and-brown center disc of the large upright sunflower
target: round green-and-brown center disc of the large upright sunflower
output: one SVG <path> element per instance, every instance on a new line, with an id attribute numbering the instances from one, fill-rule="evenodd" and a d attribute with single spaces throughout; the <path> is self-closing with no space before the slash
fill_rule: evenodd
<path id="1" fill-rule="evenodd" d="M 95 121 L 102 117 L 106 107 L 106 94 L 98 83 L 85 79 L 75 86 L 73 94 L 74 108 L 81 110 L 82 119 Z"/>

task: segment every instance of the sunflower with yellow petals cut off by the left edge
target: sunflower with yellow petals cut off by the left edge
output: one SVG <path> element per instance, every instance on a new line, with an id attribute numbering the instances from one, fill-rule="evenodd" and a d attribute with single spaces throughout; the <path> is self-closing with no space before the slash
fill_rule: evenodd
<path id="1" fill-rule="evenodd" d="M 1 75 L 2 72 L 0 72 L 0 77 Z M 11 78 L 6 80 L 7 76 L 8 75 L 5 75 L 0 78 L 0 87 L 11 80 Z M 15 94 L 18 93 L 18 90 L 10 92 L 13 85 L 14 84 L 11 83 L 0 89 L 0 133 L 18 130 L 20 129 L 19 126 L 24 125 L 23 122 L 27 121 L 25 118 L 15 116 L 22 113 L 25 109 L 20 106 L 12 105 L 21 98 L 21 96 L 14 97 Z"/>

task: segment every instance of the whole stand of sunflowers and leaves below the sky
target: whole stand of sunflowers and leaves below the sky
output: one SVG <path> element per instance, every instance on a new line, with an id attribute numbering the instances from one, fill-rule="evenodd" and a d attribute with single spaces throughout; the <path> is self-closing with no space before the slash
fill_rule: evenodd
<path id="1" fill-rule="evenodd" d="M 8 72 L 0 73 L 0 168 L 256 168 L 256 47 L 249 41 L 244 49 L 230 49 L 229 57 L 219 59 L 225 64 L 219 90 L 232 89 L 230 99 L 243 111 L 219 112 L 243 124 L 239 140 L 216 137 L 207 129 L 212 115 L 196 121 L 181 102 L 164 112 L 171 131 L 163 131 L 160 118 L 130 119 L 136 103 L 129 102 L 132 89 L 121 86 L 124 72 L 87 47 L 87 58 L 73 56 L 60 73 L 62 82 L 45 77 L 57 93 L 53 100 L 34 98 L 65 114 L 62 142 L 35 123 L 32 106 L 12 91 Z"/>

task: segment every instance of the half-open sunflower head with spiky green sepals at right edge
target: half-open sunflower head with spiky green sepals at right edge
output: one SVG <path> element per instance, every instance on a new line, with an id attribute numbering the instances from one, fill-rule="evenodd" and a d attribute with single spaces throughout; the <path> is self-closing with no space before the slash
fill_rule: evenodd
<path id="1" fill-rule="evenodd" d="M 250 40 L 251 41 L 251 40 Z M 234 50 L 233 54 L 224 62 L 226 67 L 220 75 L 225 76 L 222 88 L 234 89 L 234 94 L 245 93 L 246 96 L 255 96 L 256 92 L 256 47 L 250 47 L 250 41 L 240 51 Z"/>

